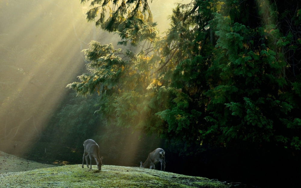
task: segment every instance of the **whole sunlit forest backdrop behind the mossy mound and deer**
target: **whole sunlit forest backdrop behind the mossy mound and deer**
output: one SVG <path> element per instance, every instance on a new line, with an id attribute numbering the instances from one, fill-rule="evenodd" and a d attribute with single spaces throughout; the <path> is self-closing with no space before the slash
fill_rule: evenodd
<path id="1" fill-rule="evenodd" d="M 0 26 L 1 151 L 301 187 L 301 1 L 0 0 Z"/>

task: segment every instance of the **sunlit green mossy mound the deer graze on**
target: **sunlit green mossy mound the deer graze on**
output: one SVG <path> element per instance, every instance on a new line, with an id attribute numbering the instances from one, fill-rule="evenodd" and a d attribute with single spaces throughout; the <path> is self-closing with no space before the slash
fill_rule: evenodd
<path id="1" fill-rule="evenodd" d="M 42 168 L 26 172 L 0 174 L 0 187 L 207 187 L 227 188 L 218 181 L 138 167 L 81 165 Z"/>

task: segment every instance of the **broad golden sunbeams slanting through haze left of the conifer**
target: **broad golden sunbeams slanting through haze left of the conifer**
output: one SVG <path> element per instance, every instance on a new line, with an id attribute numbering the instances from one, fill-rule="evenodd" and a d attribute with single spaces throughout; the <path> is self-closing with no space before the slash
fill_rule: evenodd
<path id="1" fill-rule="evenodd" d="M 84 68 L 81 51 L 92 39 L 87 30 L 94 26 L 86 23 L 79 2 L 1 3 L 7 14 L 17 11 L 1 31 L 3 59 L 11 72 L 0 77 L 13 84 L 2 93 L 1 137 L 6 142 L 36 140 L 68 91 L 65 86 Z"/>

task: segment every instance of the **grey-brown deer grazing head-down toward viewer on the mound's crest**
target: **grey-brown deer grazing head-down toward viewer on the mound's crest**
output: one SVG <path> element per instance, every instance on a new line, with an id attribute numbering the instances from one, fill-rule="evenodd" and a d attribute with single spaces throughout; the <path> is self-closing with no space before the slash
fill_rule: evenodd
<path id="1" fill-rule="evenodd" d="M 92 169 L 92 158 L 94 157 L 94 160 L 96 161 L 98 170 L 101 170 L 102 165 L 102 159 L 103 157 L 99 157 L 99 146 L 98 144 L 92 140 L 88 139 L 84 142 L 84 155 L 82 156 L 82 168 L 84 168 L 84 160 L 86 159 L 87 167 L 88 165 L 88 156 L 90 158 L 90 169 Z"/>

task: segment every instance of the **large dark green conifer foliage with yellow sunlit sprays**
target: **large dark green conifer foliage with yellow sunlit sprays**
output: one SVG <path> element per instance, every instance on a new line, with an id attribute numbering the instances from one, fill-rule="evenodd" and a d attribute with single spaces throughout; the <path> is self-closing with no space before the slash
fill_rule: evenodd
<path id="1" fill-rule="evenodd" d="M 96 26 L 128 48 L 92 41 L 90 72 L 69 88 L 97 92 L 108 125 L 186 146 L 300 149 L 300 4 L 194 0 L 178 4 L 160 36 L 147 3 L 91 1 L 87 20 L 99 11 Z"/>

